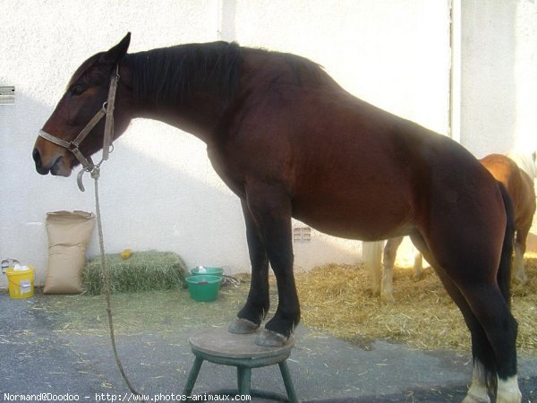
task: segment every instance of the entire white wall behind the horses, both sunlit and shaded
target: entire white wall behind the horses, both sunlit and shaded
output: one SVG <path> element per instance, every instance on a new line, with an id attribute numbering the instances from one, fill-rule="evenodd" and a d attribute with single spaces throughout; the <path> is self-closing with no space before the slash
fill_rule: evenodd
<path id="1" fill-rule="evenodd" d="M 502 2 L 465 2 L 470 5 L 463 9 L 463 22 L 476 28 L 463 33 L 463 56 L 470 58 L 471 67 L 463 69 L 462 86 L 470 88 L 461 109 L 461 138 L 484 154 L 493 151 L 499 136 L 501 141 L 510 138 L 511 127 L 516 133 L 535 127 L 532 105 L 537 91 L 532 67 L 535 4 L 510 0 L 507 10 L 498 5 L 491 7 L 494 13 L 482 16 L 478 4 L 483 3 Z M 0 106 L 0 256 L 34 264 L 42 281 L 46 212 L 94 210 L 89 178 L 88 191 L 79 193 L 74 177 L 38 176 L 31 150 L 75 68 L 114 45 L 126 31 L 132 31 L 131 51 L 236 39 L 242 45 L 307 56 L 360 98 L 447 134 L 449 6 L 448 0 L 0 0 L 7 16 L 0 30 L 0 85 L 15 85 L 17 90 L 14 106 Z M 473 76 L 482 74 L 483 65 L 497 68 L 487 54 L 493 46 L 479 45 L 483 54 L 477 55 L 474 44 L 490 35 L 501 39 L 502 34 L 516 37 L 514 42 L 502 39 L 501 48 L 507 51 L 515 44 L 516 54 L 500 64 L 500 70 L 515 75 L 506 83 L 516 87 L 515 95 L 494 91 Z M 533 80 L 524 81 L 531 87 L 524 87 L 517 74 Z M 501 131 L 489 130 L 490 122 L 483 117 L 490 115 L 490 97 L 502 102 L 502 110 L 509 109 L 506 121 L 502 114 L 493 116 L 494 127 Z M 480 140 L 482 133 L 491 137 Z M 513 141 L 505 142 L 507 147 Z M 181 253 L 190 266 L 249 269 L 239 201 L 213 173 L 204 144 L 192 136 L 166 124 L 134 122 L 116 141 L 100 187 L 107 252 L 157 248 Z M 94 237 L 90 253 L 97 251 Z M 310 244 L 295 245 L 295 256 L 296 266 L 305 269 L 322 262 L 353 262 L 360 259 L 360 243 L 314 233 Z"/>

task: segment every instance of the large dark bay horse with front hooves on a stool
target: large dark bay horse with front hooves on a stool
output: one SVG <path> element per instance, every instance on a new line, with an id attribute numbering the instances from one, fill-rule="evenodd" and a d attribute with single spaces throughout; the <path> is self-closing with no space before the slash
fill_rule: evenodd
<path id="1" fill-rule="evenodd" d="M 231 331 L 255 331 L 268 312 L 268 263 L 278 304 L 258 343 L 285 343 L 298 324 L 292 217 L 334 236 L 409 235 L 472 334 L 465 400 L 487 401 L 487 387 L 497 384 L 498 401 L 520 401 L 508 284 L 512 206 L 477 159 L 354 98 L 302 57 L 224 42 L 127 54 L 129 42 L 130 35 L 73 74 L 36 141 L 38 173 L 69 176 L 77 154 L 102 147 L 105 124 L 84 127 L 100 110 L 111 115 L 117 81 L 115 137 L 139 116 L 193 133 L 242 201 L 251 289 Z"/>

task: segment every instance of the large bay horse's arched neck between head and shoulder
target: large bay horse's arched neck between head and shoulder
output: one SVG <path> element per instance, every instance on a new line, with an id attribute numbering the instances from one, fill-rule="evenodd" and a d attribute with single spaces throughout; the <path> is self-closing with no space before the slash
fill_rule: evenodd
<path id="1" fill-rule="evenodd" d="M 157 119 L 212 141 L 236 89 L 236 48 L 227 45 L 189 45 L 128 55 L 132 117 Z M 158 58 L 162 63 L 155 63 Z M 234 73 L 218 66 L 218 58 Z"/>

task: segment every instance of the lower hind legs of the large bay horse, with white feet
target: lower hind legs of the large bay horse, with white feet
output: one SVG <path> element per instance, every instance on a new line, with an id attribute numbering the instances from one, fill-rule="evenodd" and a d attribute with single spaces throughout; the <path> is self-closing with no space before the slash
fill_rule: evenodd
<path id="1" fill-rule="evenodd" d="M 516 321 L 499 287 L 494 282 L 456 284 L 431 255 L 422 236 L 414 234 L 412 240 L 438 273 L 471 333 L 473 380 L 463 402 L 489 403 L 488 390 L 493 389 L 497 381 L 498 403 L 520 401 L 516 383 Z"/>

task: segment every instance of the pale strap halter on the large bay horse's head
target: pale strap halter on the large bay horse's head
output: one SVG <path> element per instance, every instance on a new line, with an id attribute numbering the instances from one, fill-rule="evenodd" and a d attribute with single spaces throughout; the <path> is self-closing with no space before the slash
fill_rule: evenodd
<path id="1" fill-rule="evenodd" d="M 108 90 L 107 101 L 103 104 L 103 107 L 98 110 L 98 113 L 91 118 L 90 122 L 86 124 L 86 126 L 81 130 L 81 133 L 79 133 L 79 135 L 76 136 L 73 141 L 65 141 L 64 139 L 55 137 L 42 129 L 39 130 L 39 137 L 42 137 L 47 141 L 54 142 L 56 145 L 59 145 L 60 147 L 64 147 L 64 149 L 71 151 L 76 157 L 76 159 L 80 161 L 82 165 L 82 170 L 81 172 L 79 172 L 77 183 L 81 192 L 84 192 L 84 186 L 82 184 L 82 175 L 84 174 L 84 172 L 91 172 L 92 175 L 93 172 L 96 172 L 96 175 L 98 175 L 97 171 L 100 165 L 103 161 L 106 161 L 108 159 L 108 155 L 111 152 L 110 148 L 114 149 L 114 146 L 112 145 L 112 140 L 114 138 L 115 90 L 117 90 L 118 81 L 119 64 L 115 66 L 115 73 L 113 73 L 110 78 L 110 89 Z M 105 121 L 105 134 L 103 137 L 103 156 L 98 164 L 94 164 L 91 160 L 91 157 L 86 158 L 82 155 L 81 150 L 79 150 L 79 146 L 104 116 L 107 116 L 107 119 Z"/>

